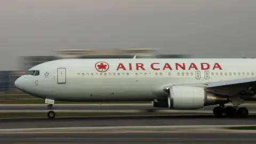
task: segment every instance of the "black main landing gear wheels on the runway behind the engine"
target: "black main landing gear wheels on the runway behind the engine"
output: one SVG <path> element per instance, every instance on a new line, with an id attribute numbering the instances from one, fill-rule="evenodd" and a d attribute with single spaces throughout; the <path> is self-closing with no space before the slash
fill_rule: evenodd
<path id="1" fill-rule="evenodd" d="M 213 114 L 217 117 L 221 117 L 223 114 L 228 117 L 247 117 L 249 115 L 249 110 L 245 107 L 219 106 L 213 109 Z"/>

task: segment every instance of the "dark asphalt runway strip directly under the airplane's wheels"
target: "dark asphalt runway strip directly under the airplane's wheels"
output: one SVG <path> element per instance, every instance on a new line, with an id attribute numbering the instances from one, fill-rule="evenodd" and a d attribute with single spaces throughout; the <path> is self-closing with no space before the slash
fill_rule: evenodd
<path id="1" fill-rule="evenodd" d="M 256 124 L 256 115 L 248 118 L 215 118 L 212 115 L 167 115 L 131 117 L 56 117 L 1 118 L 0 129 L 98 126 L 163 126 L 163 125 L 248 125 Z"/>

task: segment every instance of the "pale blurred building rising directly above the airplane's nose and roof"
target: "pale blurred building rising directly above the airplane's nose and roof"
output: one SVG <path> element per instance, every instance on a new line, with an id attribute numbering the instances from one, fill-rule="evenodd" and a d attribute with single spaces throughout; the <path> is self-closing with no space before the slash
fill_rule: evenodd
<path id="1" fill-rule="evenodd" d="M 157 49 L 96 49 L 57 50 L 56 56 L 33 56 L 21 58 L 21 70 L 28 70 L 40 63 L 57 59 L 131 59 L 136 58 L 189 58 L 186 54 L 156 54 Z"/>

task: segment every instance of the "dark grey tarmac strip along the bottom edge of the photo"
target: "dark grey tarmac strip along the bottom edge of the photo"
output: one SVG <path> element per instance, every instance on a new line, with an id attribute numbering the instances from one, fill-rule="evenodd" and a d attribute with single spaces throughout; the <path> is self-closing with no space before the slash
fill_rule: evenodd
<path id="1" fill-rule="evenodd" d="M 1 143 L 255 143 L 254 133 L 0 134 Z"/>

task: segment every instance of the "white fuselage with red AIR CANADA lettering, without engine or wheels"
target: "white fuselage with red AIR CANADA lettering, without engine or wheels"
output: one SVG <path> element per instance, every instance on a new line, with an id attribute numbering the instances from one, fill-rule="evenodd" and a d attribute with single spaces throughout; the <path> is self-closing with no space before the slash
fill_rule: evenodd
<path id="1" fill-rule="evenodd" d="M 256 76 L 255 59 L 65 59 L 29 70 L 15 85 L 39 98 L 62 101 L 166 99 L 163 87 Z M 102 64 L 101 64 L 102 63 Z M 167 64 L 166 64 L 167 63 Z"/>

